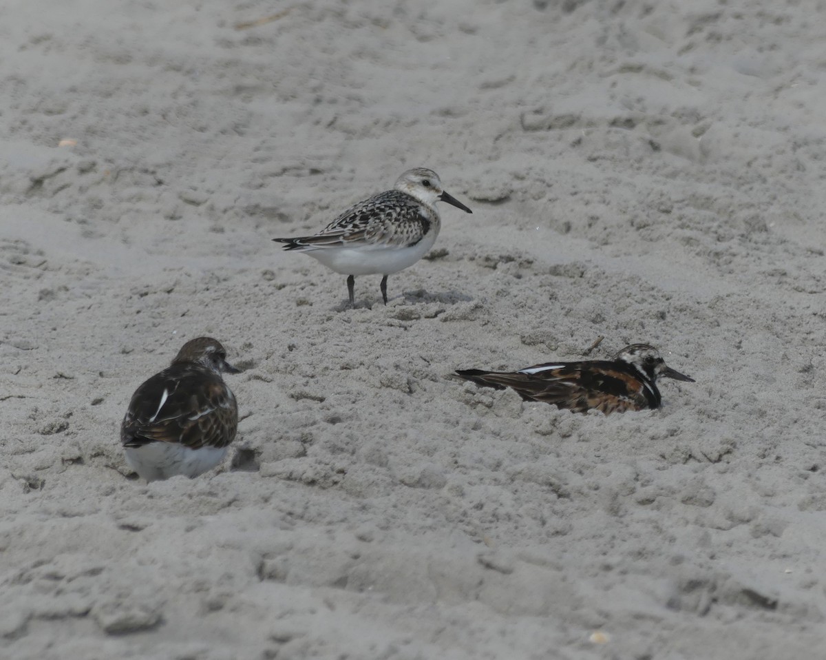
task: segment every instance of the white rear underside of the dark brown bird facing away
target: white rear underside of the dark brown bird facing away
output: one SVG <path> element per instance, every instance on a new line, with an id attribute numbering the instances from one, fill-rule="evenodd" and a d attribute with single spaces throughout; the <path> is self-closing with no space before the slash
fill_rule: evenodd
<path id="1" fill-rule="evenodd" d="M 224 460 L 227 447 L 190 449 L 172 442 L 150 442 L 143 447 L 126 447 L 126 462 L 146 481 L 170 476 L 198 476 Z"/>

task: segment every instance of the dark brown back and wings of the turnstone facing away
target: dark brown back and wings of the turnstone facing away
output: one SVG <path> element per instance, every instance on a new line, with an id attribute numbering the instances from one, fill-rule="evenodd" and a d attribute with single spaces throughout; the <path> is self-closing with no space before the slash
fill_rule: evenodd
<path id="1" fill-rule="evenodd" d="M 235 396 L 210 371 L 170 374 L 174 369 L 154 375 L 135 391 L 121 426 L 121 442 L 125 447 L 155 441 L 191 449 L 226 447 L 238 428 Z M 168 395 L 159 409 L 164 390 Z"/>

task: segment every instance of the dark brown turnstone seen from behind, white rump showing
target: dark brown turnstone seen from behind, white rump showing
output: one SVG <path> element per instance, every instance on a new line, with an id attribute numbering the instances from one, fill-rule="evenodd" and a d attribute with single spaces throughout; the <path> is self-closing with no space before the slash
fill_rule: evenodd
<path id="1" fill-rule="evenodd" d="M 198 337 L 135 390 L 121 443 L 126 462 L 146 481 L 198 476 L 224 458 L 238 429 L 238 405 L 221 371 L 239 373 L 221 342 Z"/>

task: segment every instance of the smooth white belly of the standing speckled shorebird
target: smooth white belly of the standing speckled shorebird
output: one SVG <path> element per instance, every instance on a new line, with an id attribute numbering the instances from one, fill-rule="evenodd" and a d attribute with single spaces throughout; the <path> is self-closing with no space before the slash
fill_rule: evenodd
<path id="1" fill-rule="evenodd" d="M 392 275 L 419 261 L 436 242 L 436 232 L 429 232 L 410 247 L 363 245 L 328 247 L 306 254 L 342 275 Z"/>

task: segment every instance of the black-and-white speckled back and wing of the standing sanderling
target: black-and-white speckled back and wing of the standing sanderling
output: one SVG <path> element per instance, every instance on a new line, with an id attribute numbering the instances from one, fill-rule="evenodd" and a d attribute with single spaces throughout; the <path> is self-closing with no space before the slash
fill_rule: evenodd
<path id="1" fill-rule="evenodd" d="M 276 238 L 286 250 L 320 250 L 344 245 L 404 247 L 415 245 L 430 232 L 430 218 L 418 200 L 399 190 L 388 190 L 348 208 L 314 236 Z"/>

